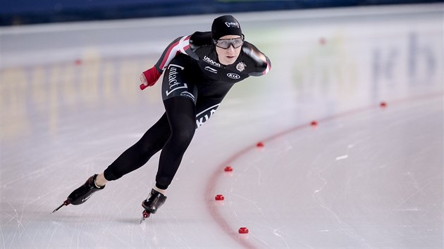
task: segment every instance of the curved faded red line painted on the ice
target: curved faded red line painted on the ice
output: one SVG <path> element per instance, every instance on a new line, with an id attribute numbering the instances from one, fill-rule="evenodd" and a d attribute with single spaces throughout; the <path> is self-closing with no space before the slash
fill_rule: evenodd
<path id="1" fill-rule="evenodd" d="M 421 101 L 421 100 L 425 100 L 425 99 L 429 99 L 429 98 L 443 97 L 443 94 L 444 94 L 443 91 L 440 91 L 440 92 L 432 93 L 432 94 L 426 94 L 426 95 L 421 95 L 421 96 L 412 96 L 410 98 L 402 98 L 399 100 L 388 102 L 388 107 L 393 106 L 395 104 L 405 103 L 405 102 Z M 347 117 L 347 116 L 355 115 L 358 113 L 364 113 L 368 110 L 373 110 L 376 108 L 381 108 L 381 107 L 379 105 L 374 104 L 371 106 L 366 106 L 366 107 L 357 108 L 354 110 L 349 110 L 344 113 L 338 113 L 338 114 L 331 115 L 328 117 L 323 117 L 317 121 L 321 122 L 321 123 L 327 122 L 327 121 L 331 121 L 331 120 L 336 120 L 340 117 Z M 309 127 L 310 127 L 310 124 L 309 124 L 309 122 L 307 122 L 307 124 L 297 125 L 295 127 L 291 127 L 290 129 L 285 129 L 282 132 L 278 132 L 276 134 L 268 136 L 265 139 L 261 139 L 261 141 L 268 142 L 273 139 L 277 139 L 280 136 L 285 136 L 285 135 L 290 134 L 292 132 L 296 132 L 296 131 L 299 131 L 300 129 L 309 128 Z M 211 177 L 208 179 L 208 182 L 206 184 L 206 190 L 205 190 L 206 208 L 209 210 L 211 217 L 213 217 L 214 221 L 216 221 L 216 224 L 218 224 L 218 226 L 221 226 L 221 229 L 226 234 L 228 234 L 228 236 L 233 238 L 235 241 L 238 241 L 238 243 L 240 243 L 240 245 L 242 245 L 244 248 L 250 248 L 250 249 L 255 249 L 257 247 L 252 245 L 252 243 L 249 243 L 249 241 L 242 239 L 242 237 L 237 236 L 238 234 L 236 233 L 236 231 L 230 227 L 230 225 L 228 224 L 226 219 L 224 219 L 222 217 L 222 215 L 218 212 L 218 208 L 215 205 L 214 201 L 211 200 L 211 196 L 214 196 L 216 194 L 216 191 L 214 191 L 214 190 L 216 189 L 216 183 L 218 181 L 218 178 L 223 175 L 222 174 L 223 168 L 226 167 L 226 165 L 232 164 L 232 162 L 234 162 L 235 160 L 237 160 L 238 158 L 240 158 L 242 155 L 246 154 L 247 152 L 254 150 L 254 148 L 256 148 L 255 145 L 247 146 L 247 147 L 243 148 L 242 150 L 238 151 L 237 153 L 234 153 L 233 155 L 231 155 L 230 158 L 224 160 L 221 163 L 221 165 L 218 165 L 216 170 L 213 172 L 213 174 L 211 174 Z"/>

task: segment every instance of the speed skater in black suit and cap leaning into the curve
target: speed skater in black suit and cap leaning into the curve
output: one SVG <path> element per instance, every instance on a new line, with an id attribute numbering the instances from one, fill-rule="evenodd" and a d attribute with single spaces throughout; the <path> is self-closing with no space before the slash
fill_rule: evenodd
<path id="1" fill-rule="evenodd" d="M 249 76 L 265 75 L 270 68 L 269 58 L 245 41 L 232 15 L 214 19 L 211 32 L 178 37 L 166 47 L 156 65 L 140 75 L 140 89 L 144 89 L 153 86 L 164 73 L 164 115 L 104 172 L 94 174 L 70 193 L 56 210 L 63 205 L 85 203 L 108 181 L 137 170 L 161 151 L 156 184 L 142 202 L 144 218 L 154 214 L 165 203 L 166 189 L 197 127 L 209 120 L 235 83 Z"/>

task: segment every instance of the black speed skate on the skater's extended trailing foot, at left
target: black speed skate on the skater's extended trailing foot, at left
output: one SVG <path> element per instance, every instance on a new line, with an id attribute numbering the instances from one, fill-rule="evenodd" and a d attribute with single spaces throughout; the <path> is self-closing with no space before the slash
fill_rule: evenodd
<path id="1" fill-rule="evenodd" d="M 56 212 L 61 207 L 66 206 L 66 205 L 70 205 L 70 204 L 80 205 L 82 203 L 85 203 L 85 201 L 87 201 L 92 196 L 92 194 L 94 192 L 104 189 L 105 186 L 101 186 L 101 187 L 96 186 L 96 184 L 95 184 L 96 178 L 97 178 L 97 174 L 94 174 L 92 177 L 88 178 L 87 181 L 85 182 L 85 184 L 83 184 L 78 189 L 75 189 L 75 191 L 70 193 L 68 198 L 66 198 L 66 200 L 63 201 L 63 203 L 52 212 Z"/>

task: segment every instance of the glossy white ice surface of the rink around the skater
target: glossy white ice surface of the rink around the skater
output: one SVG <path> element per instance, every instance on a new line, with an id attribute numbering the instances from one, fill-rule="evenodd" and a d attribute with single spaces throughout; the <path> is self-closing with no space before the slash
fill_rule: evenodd
<path id="1" fill-rule="evenodd" d="M 137 224 L 156 155 L 49 215 L 163 113 L 140 72 L 216 16 L 1 28 L 2 248 L 442 248 L 441 4 L 235 15 L 271 72 L 198 129 L 159 213 Z"/>

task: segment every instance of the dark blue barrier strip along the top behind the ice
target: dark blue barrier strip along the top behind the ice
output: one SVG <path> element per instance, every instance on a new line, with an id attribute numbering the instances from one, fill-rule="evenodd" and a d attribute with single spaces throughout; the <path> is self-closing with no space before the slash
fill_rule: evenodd
<path id="1" fill-rule="evenodd" d="M 442 1 L 442 0 L 441 0 Z M 297 8 L 376 4 L 414 4 L 436 0 L 2 0 L 0 25 L 146 18 L 204 13 L 236 13 Z"/>

